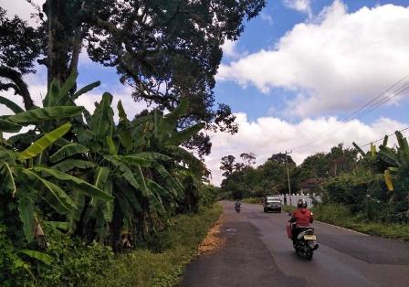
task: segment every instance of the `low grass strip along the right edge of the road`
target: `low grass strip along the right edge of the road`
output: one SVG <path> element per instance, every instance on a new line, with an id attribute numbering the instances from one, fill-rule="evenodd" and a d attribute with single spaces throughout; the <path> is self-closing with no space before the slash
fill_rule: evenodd
<path id="1" fill-rule="evenodd" d="M 291 206 L 283 206 L 282 208 L 285 212 L 293 212 L 296 209 L 296 207 Z M 368 221 L 362 215 L 353 216 L 348 207 L 342 205 L 319 205 L 312 207 L 311 211 L 314 214 L 314 219 L 322 222 L 369 235 L 409 241 L 409 225 L 407 224 Z"/>

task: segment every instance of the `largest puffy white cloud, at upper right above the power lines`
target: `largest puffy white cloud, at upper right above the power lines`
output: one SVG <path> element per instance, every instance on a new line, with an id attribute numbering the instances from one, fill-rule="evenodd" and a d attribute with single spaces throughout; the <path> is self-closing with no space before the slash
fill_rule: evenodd
<path id="1" fill-rule="evenodd" d="M 280 87 L 299 96 L 288 111 L 306 117 L 349 111 L 409 72 L 409 7 L 379 5 L 349 14 L 335 1 L 315 21 L 300 23 L 278 40 L 229 65 L 217 80 L 263 92 Z"/>

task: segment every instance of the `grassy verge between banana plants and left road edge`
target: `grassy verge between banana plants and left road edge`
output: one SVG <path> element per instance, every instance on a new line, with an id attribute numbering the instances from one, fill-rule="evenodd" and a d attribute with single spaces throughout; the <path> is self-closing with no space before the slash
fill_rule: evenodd
<path id="1" fill-rule="evenodd" d="M 90 286 L 175 286 L 182 279 L 187 263 L 197 254 L 208 229 L 222 213 L 222 206 L 201 210 L 198 214 L 173 219 L 170 229 L 161 234 L 159 249 L 132 250 L 115 257 L 104 278 Z"/>

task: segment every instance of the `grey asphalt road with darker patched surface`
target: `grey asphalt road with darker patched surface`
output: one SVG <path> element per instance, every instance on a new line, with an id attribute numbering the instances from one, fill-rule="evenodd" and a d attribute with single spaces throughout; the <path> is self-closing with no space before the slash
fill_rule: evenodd
<path id="1" fill-rule="evenodd" d="M 287 238 L 287 214 L 222 204 L 225 246 L 197 257 L 182 286 L 409 286 L 409 243 L 314 222 L 320 249 L 304 260 Z"/>

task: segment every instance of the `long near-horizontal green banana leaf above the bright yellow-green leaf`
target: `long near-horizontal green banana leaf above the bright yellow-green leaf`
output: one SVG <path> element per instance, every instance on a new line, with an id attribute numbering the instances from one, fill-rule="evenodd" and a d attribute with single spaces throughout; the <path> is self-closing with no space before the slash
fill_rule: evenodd
<path id="1" fill-rule="evenodd" d="M 29 125 L 36 124 L 38 122 L 75 117 L 81 114 L 82 110 L 82 107 L 74 106 L 38 108 L 26 112 L 19 112 L 15 115 L 8 116 L 6 119 L 7 121 L 18 123 L 21 125 Z"/>

